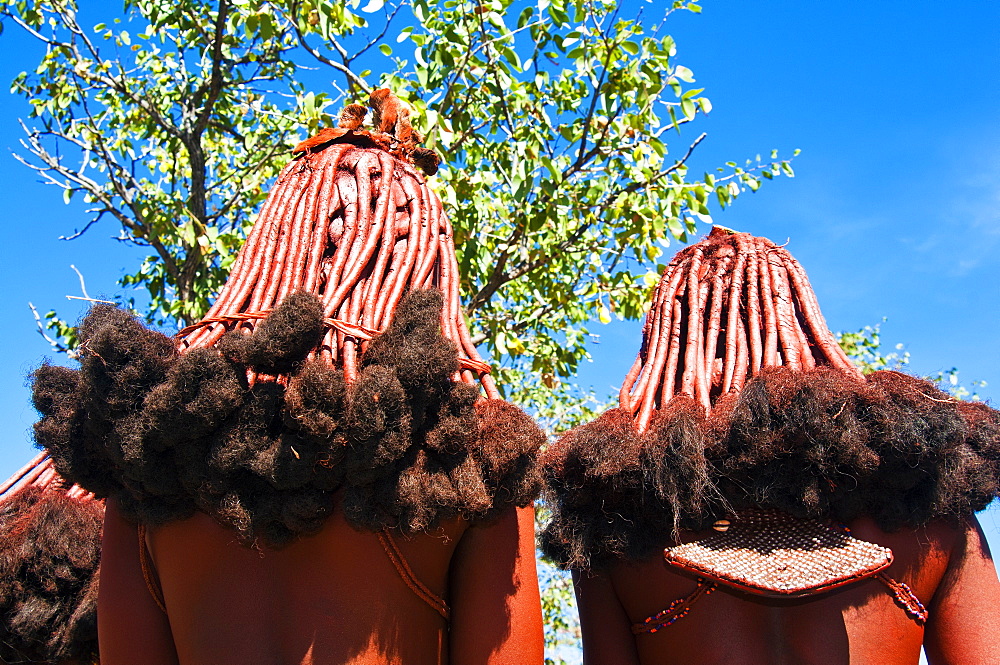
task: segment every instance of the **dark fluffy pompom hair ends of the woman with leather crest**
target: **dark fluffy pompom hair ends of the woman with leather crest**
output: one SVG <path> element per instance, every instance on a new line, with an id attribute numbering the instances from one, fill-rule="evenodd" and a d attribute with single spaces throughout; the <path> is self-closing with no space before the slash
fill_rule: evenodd
<path id="1" fill-rule="evenodd" d="M 76 433 L 86 433 L 87 463 L 109 480 L 74 480 L 115 496 L 128 519 L 158 525 L 201 510 L 246 544 L 277 547 L 314 533 L 342 487 L 345 515 L 365 529 L 490 519 L 534 499 L 543 436 L 519 410 L 480 400 L 475 386 L 455 380 L 458 350 L 443 335 L 438 292 L 401 299 L 351 385 L 329 364 L 306 359 L 318 339 L 319 301 L 290 301 L 272 314 L 277 322 L 231 333 L 220 348 L 161 362 L 159 337 L 129 328 L 139 340 L 133 348 L 145 353 L 135 367 L 109 353 L 116 364 L 88 358 L 87 372 L 39 368 L 39 442 L 75 470 Z M 103 340 L 92 347 L 98 352 L 112 344 L 101 321 L 138 325 L 107 310 L 88 320 L 97 331 L 88 339 Z M 287 373 L 250 384 L 248 368 Z M 81 397 L 114 391 L 114 417 L 92 412 Z"/>

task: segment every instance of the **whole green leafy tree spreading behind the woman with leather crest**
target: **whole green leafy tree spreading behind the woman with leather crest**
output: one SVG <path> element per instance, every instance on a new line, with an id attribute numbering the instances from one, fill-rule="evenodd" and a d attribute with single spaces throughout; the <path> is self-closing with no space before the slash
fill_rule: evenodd
<path id="1" fill-rule="evenodd" d="M 587 322 L 640 317 L 671 238 L 791 167 L 772 155 L 688 172 L 704 134 L 685 138 L 686 125 L 711 103 L 664 20 L 694 3 L 653 23 L 611 0 L 360 5 L 126 0 L 120 16 L 87 17 L 73 0 L 7 0 L 4 20 L 47 49 L 13 84 L 31 105 L 21 159 L 90 204 L 76 234 L 109 217 L 149 248 L 122 285 L 147 296 L 150 321 L 184 325 L 288 150 L 389 86 L 445 158 L 437 187 L 498 383 L 565 425 L 581 413 L 566 379 L 587 357 Z M 330 85 L 320 75 L 336 94 L 306 91 Z M 49 325 L 72 343 L 54 313 Z"/>

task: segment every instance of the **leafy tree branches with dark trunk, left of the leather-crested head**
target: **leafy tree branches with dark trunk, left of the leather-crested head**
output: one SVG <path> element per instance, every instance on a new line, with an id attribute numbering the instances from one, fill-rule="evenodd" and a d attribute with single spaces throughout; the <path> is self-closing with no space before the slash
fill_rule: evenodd
<path id="1" fill-rule="evenodd" d="M 46 47 L 11 90 L 30 105 L 21 161 L 89 206 L 68 237 L 114 218 L 118 240 L 150 250 L 121 282 L 146 292 L 149 318 L 197 318 L 295 131 L 329 122 L 295 77 L 293 34 L 260 2 L 128 0 L 92 27 L 73 0 L 0 12 Z"/>

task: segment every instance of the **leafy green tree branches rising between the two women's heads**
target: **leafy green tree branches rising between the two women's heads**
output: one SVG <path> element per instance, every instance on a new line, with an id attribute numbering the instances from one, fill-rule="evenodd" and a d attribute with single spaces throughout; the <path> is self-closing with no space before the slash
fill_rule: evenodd
<path id="1" fill-rule="evenodd" d="M 467 310 L 510 379 L 552 390 L 573 376 L 589 321 L 642 316 L 664 246 L 711 222 L 712 204 L 793 174 L 772 155 L 691 176 L 704 134 L 671 141 L 711 102 L 662 20 L 627 19 L 605 0 L 412 7 L 418 23 L 401 35 L 412 60 L 383 83 L 446 157 Z M 677 9 L 698 7 L 675 2 L 663 19 Z"/>

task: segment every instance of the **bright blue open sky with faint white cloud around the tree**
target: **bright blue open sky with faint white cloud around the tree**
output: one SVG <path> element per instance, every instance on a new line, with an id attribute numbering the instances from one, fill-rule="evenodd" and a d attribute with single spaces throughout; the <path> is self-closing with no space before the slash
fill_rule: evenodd
<path id="1" fill-rule="evenodd" d="M 623 11 L 639 8 L 658 14 L 638 0 Z M 714 104 L 697 123 L 708 138 L 696 172 L 802 150 L 795 179 L 766 183 L 716 221 L 789 240 L 831 329 L 886 317 L 883 341 L 906 345 L 912 372 L 958 367 L 1000 401 L 1000 3 L 706 0 L 703 14 L 677 13 L 668 31 Z M 13 25 L 0 46 L 0 81 L 40 55 Z M 22 100 L 0 93 L 3 477 L 33 454 L 24 381 L 48 353 L 27 303 L 73 319 L 81 308 L 65 296 L 80 289 L 70 264 L 97 297 L 119 292 L 116 279 L 141 256 L 111 239 L 110 220 L 58 240 L 85 217 L 10 156 L 25 114 Z M 579 378 L 604 393 L 638 350 L 639 324 L 595 323 L 592 332 L 600 342 Z M 1000 533 L 1000 513 L 983 521 Z"/>

